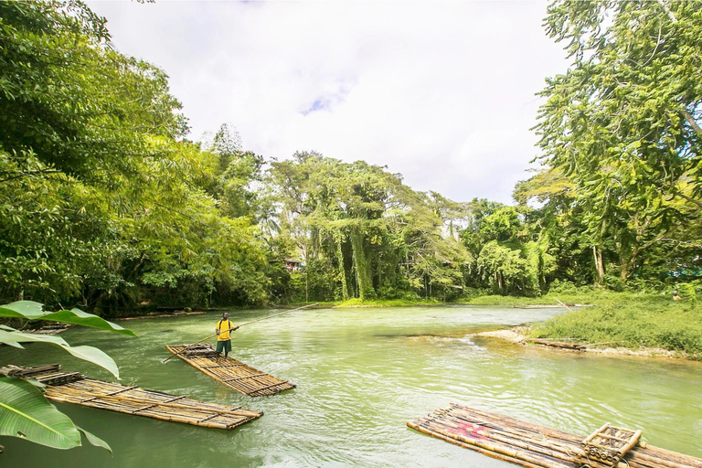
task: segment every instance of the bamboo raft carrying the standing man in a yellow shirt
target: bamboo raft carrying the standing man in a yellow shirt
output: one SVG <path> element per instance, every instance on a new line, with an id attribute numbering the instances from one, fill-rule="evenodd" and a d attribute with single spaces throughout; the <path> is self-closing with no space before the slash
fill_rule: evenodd
<path id="1" fill-rule="evenodd" d="M 188 349 L 183 352 L 186 347 Z M 295 385 L 287 380 L 274 378 L 233 357 L 225 359 L 224 356 L 219 356 L 212 345 L 166 345 L 165 348 L 207 376 L 250 397 L 275 395 L 283 390 L 295 388 Z"/>

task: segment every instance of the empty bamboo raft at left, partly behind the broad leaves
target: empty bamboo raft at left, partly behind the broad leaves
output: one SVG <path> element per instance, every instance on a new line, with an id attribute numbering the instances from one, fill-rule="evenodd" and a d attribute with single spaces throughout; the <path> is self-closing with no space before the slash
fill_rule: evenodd
<path id="1" fill-rule="evenodd" d="M 185 396 L 146 390 L 136 386 L 123 386 L 86 378 L 80 372 L 62 371 L 58 364 L 38 367 L 7 366 L 0 374 L 17 378 L 36 378 L 46 386 L 44 396 L 54 401 L 145 416 L 156 420 L 170 420 L 231 430 L 263 416 L 262 411 L 229 407 Z"/>

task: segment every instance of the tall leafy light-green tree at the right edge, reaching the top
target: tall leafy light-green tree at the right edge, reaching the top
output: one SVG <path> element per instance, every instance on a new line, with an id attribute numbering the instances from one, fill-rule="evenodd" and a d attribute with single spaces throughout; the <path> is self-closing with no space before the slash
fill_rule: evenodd
<path id="1" fill-rule="evenodd" d="M 546 25 L 573 63 L 541 92 L 543 160 L 575 184 L 593 248 L 611 240 L 626 280 L 702 213 L 702 10 L 557 1 Z"/>

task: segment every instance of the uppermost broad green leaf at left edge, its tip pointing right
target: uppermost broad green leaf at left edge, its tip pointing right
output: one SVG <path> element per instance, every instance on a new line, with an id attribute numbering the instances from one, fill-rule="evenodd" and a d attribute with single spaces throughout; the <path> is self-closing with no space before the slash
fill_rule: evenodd
<path id="1" fill-rule="evenodd" d="M 122 335 L 136 336 L 132 330 L 113 324 L 107 320 L 83 312 L 80 309 L 62 310 L 58 312 L 45 312 L 41 303 L 33 301 L 17 301 L 0 305 L 0 317 L 26 318 L 28 320 L 51 320 L 63 324 L 77 324 L 90 326 L 100 330 L 109 330 Z"/>

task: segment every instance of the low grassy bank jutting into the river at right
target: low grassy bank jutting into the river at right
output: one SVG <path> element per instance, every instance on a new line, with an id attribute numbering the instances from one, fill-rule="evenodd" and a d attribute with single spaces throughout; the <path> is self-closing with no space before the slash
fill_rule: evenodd
<path id="1" fill-rule="evenodd" d="M 563 302 L 575 298 L 558 297 Z M 584 299 L 584 298 L 582 298 Z M 580 343 L 612 343 L 630 349 L 663 348 L 702 359 L 702 304 L 674 302 L 668 295 L 601 293 L 585 307 L 534 325 L 537 338 L 572 339 Z"/>

